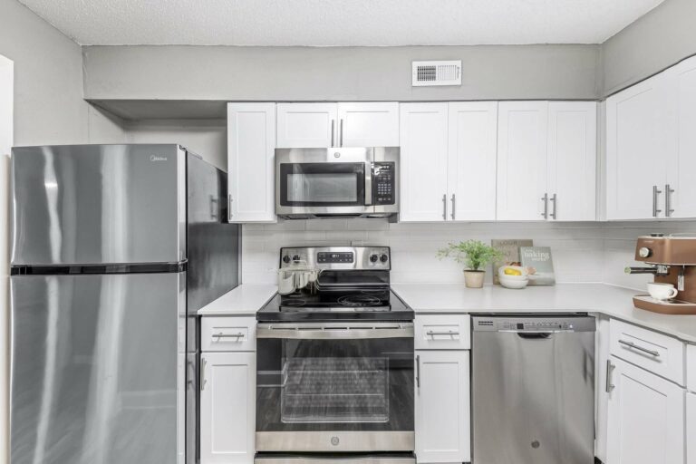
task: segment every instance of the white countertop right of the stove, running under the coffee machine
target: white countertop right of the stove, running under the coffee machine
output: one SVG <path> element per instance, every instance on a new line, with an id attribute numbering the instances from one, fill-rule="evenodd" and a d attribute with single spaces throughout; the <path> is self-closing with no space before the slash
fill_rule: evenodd
<path id="1" fill-rule="evenodd" d="M 558 284 L 510 290 L 459 284 L 391 284 L 416 314 L 601 313 L 696 343 L 696 315 L 669 315 L 633 307 L 639 292 L 604 284 Z"/>

